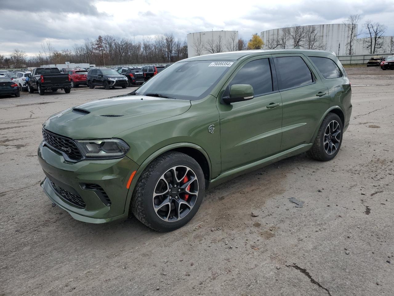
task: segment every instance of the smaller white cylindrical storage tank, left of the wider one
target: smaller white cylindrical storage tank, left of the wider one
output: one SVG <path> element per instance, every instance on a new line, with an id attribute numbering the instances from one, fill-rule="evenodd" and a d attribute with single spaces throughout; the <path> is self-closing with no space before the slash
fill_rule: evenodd
<path id="1" fill-rule="evenodd" d="M 206 31 L 190 33 L 188 57 L 201 56 L 215 52 L 238 50 L 238 31 Z"/>

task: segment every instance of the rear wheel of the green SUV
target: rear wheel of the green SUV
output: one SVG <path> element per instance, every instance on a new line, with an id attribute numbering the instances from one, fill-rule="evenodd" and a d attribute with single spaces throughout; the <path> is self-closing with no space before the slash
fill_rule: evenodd
<path id="1" fill-rule="evenodd" d="M 338 126 L 336 126 L 335 122 L 338 124 Z M 328 127 L 329 125 L 330 127 Z M 339 128 L 339 133 L 337 133 L 338 128 Z M 339 118 L 338 115 L 334 113 L 327 114 L 327 116 L 325 116 L 322 122 L 322 125 L 319 128 L 318 135 L 316 136 L 316 139 L 310 150 L 307 151 L 307 154 L 313 159 L 320 161 L 329 161 L 333 159 L 335 155 L 338 154 L 339 149 L 341 147 L 342 136 L 343 136 L 342 120 Z M 331 139 L 327 140 L 329 138 Z M 331 145 L 331 143 L 333 143 L 333 146 Z M 333 151 L 334 148 L 335 150 Z"/>

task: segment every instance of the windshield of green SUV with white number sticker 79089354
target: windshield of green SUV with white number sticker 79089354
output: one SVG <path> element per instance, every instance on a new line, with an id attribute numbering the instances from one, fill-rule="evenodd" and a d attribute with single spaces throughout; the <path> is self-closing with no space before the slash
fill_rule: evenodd
<path id="1" fill-rule="evenodd" d="M 211 92 L 229 70 L 229 61 L 178 62 L 148 80 L 136 94 L 160 94 L 175 99 L 198 100 Z"/>

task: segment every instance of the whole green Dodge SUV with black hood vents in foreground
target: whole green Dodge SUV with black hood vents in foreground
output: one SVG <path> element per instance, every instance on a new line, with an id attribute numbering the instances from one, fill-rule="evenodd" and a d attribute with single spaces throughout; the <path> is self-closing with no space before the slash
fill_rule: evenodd
<path id="1" fill-rule="evenodd" d="M 182 227 L 207 188 L 292 155 L 328 161 L 351 115 L 351 88 L 325 51 L 258 50 L 177 62 L 129 95 L 48 118 L 38 159 L 49 199 L 75 219 L 133 213 Z"/>

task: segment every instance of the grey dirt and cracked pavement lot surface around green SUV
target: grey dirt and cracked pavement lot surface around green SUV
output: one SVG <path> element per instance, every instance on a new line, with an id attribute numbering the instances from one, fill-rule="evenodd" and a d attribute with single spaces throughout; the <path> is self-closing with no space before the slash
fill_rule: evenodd
<path id="1" fill-rule="evenodd" d="M 333 161 L 301 154 L 215 187 L 171 233 L 76 221 L 39 187 L 45 119 L 130 88 L 2 97 L 0 295 L 394 295 L 394 71 L 346 70 Z"/>

